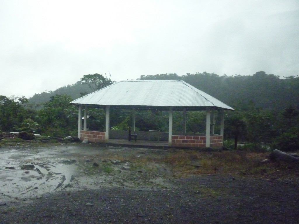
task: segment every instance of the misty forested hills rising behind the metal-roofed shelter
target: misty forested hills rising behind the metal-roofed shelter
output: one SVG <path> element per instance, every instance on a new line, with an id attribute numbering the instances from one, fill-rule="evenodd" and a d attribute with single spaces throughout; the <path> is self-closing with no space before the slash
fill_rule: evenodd
<path id="1" fill-rule="evenodd" d="M 140 76 L 139 79 L 181 79 L 190 85 L 202 90 L 233 108 L 246 109 L 248 105 L 258 108 L 277 109 L 292 105 L 299 108 L 299 77 L 291 76 L 280 79 L 273 74 L 263 71 L 248 76 L 218 76 L 214 73 L 187 73 L 178 76 L 175 73 Z M 93 90 L 81 81 L 72 85 L 58 88 L 54 91 L 36 93 L 29 98 L 31 107 L 39 106 L 50 100 L 51 96 L 66 94 L 77 99 L 82 94 Z"/>

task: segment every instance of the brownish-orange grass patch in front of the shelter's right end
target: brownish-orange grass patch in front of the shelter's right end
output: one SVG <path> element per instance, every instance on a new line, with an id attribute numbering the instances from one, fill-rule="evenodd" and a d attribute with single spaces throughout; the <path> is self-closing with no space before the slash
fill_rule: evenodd
<path id="1" fill-rule="evenodd" d="M 171 166 L 177 177 L 190 174 L 267 175 L 273 164 L 262 164 L 268 153 L 247 151 L 199 152 L 180 150 L 169 152 L 161 162 Z"/>

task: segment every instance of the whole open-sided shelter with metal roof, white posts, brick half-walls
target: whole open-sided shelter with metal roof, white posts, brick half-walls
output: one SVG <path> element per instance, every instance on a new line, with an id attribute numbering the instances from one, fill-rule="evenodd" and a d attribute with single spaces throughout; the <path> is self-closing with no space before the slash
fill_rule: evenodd
<path id="1" fill-rule="evenodd" d="M 169 111 L 168 145 L 174 147 L 220 147 L 223 145 L 224 110 L 234 110 L 207 93 L 182 80 L 126 80 L 113 83 L 71 102 L 79 108 L 78 137 L 90 142 L 109 141 L 111 108 L 132 109 L 132 131 L 136 110 Z M 86 130 L 88 107 L 106 109 L 106 130 Z M 82 128 L 82 109 L 84 123 Z M 211 113 L 220 112 L 220 134 L 210 134 Z M 206 111 L 204 135 L 173 134 L 173 111 Z M 186 116 L 184 116 L 185 118 Z M 213 120 L 213 116 L 212 116 Z M 184 122 L 186 123 L 186 122 Z M 185 127 L 184 127 L 185 129 Z"/>

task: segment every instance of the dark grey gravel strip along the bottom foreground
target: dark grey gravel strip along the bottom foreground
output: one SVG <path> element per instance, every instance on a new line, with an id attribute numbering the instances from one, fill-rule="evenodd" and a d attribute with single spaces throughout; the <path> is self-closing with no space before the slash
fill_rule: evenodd
<path id="1" fill-rule="evenodd" d="M 170 188 L 58 191 L 0 204 L 0 223 L 298 223 L 299 188 L 252 177 L 194 176 Z"/>

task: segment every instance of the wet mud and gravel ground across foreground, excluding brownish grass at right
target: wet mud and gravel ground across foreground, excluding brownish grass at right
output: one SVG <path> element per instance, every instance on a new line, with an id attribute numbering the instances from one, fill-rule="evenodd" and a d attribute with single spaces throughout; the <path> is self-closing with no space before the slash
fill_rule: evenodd
<path id="1" fill-rule="evenodd" d="M 180 176 L 161 160 L 168 153 L 80 143 L 3 146 L 0 223 L 298 223 L 298 182 Z"/>

